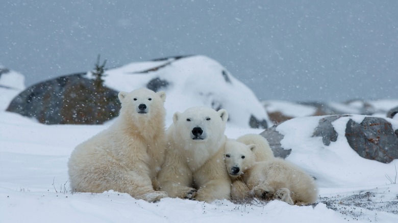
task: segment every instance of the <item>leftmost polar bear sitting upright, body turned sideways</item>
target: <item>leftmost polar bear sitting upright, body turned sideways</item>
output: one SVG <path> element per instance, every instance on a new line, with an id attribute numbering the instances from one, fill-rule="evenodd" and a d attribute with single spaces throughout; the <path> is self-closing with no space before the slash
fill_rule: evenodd
<path id="1" fill-rule="evenodd" d="M 106 130 L 78 145 L 69 158 L 72 191 L 129 193 L 156 202 L 167 197 L 156 176 L 164 161 L 164 92 L 120 92 L 120 115 Z"/>

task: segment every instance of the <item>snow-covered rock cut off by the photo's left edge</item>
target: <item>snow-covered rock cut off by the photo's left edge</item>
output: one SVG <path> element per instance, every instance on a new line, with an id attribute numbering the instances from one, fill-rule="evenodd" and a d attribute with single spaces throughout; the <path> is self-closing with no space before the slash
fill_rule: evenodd
<path id="1" fill-rule="evenodd" d="M 0 110 L 5 110 L 8 103 L 25 89 L 25 77 L 0 65 Z"/>

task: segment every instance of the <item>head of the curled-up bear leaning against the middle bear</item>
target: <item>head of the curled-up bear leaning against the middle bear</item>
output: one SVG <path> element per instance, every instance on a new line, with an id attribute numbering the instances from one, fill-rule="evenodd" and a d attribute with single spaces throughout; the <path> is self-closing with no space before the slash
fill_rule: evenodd
<path id="1" fill-rule="evenodd" d="M 225 147 L 225 165 L 227 172 L 232 178 L 237 178 L 244 171 L 252 168 L 255 164 L 255 144 L 245 145 L 243 143 L 229 140 Z"/>

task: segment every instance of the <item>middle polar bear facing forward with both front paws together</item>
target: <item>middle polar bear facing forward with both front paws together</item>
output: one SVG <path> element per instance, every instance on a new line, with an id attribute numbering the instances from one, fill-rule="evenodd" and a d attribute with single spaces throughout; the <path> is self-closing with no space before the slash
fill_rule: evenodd
<path id="1" fill-rule="evenodd" d="M 223 160 L 227 120 L 227 110 L 205 106 L 173 115 L 158 177 L 161 190 L 173 198 L 207 203 L 230 199 L 231 180 Z"/>

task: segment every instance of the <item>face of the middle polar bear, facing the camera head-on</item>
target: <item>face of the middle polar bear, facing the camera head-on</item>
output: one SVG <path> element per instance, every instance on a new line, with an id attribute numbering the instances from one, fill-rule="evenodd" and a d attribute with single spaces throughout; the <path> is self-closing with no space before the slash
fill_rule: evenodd
<path id="1" fill-rule="evenodd" d="M 191 107 L 184 113 L 175 113 L 173 123 L 176 133 L 185 141 L 205 142 L 224 136 L 228 113 L 209 107 Z"/>

